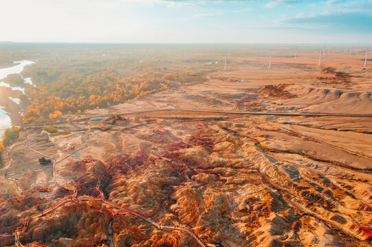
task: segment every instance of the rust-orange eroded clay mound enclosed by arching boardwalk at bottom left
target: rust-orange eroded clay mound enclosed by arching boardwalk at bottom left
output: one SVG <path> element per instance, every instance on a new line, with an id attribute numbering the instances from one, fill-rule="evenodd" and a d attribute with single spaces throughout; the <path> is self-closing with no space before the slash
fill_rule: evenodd
<path id="1" fill-rule="evenodd" d="M 107 244 L 107 227 L 111 212 L 98 200 L 67 204 L 54 213 L 31 222 L 21 242 L 38 242 L 47 246 L 98 246 Z"/>

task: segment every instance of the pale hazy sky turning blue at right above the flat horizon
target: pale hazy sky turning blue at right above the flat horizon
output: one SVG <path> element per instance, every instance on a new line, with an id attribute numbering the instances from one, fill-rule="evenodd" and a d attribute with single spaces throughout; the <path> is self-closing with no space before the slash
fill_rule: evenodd
<path id="1" fill-rule="evenodd" d="M 372 0 L 0 0 L 0 41 L 372 43 Z"/>

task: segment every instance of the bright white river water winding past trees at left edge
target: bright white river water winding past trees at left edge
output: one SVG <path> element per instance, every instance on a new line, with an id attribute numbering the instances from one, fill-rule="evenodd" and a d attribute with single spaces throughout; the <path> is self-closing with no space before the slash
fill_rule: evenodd
<path id="1" fill-rule="evenodd" d="M 17 65 L 0 69 L 0 81 L 3 80 L 3 78 L 6 78 L 10 74 L 21 73 L 23 71 L 23 68 L 26 65 L 34 64 L 34 62 L 28 61 L 28 60 L 22 60 L 22 61 L 15 61 L 14 64 L 17 64 Z M 31 78 L 23 78 L 23 80 L 26 84 L 32 84 Z M 25 92 L 25 89 L 19 86 L 10 86 L 10 84 L 7 84 L 5 82 L 0 82 L 0 90 L 1 90 L 1 86 L 12 88 L 12 90 L 22 91 L 23 93 Z M 13 102 L 19 104 L 19 99 L 11 98 L 11 97 L 10 99 L 12 99 Z M 2 106 L 0 106 L 0 138 L 3 135 L 3 132 L 4 132 L 3 130 L 5 130 L 6 128 L 9 128 L 10 126 L 12 126 L 12 121 L 10 121 L 9 113 L 7 113 L 3 109 Z"/>

